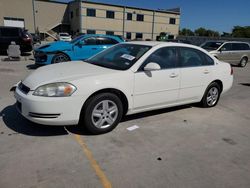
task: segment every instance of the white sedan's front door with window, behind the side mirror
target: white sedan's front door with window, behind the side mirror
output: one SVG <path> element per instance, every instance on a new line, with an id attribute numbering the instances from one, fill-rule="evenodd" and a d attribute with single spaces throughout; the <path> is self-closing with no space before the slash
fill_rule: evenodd
<path id="1" fill-rule="evenodd" d="M 163 47 L 153 52 L 134 77 L 134 109 L 167 106 L 177 102 L 180 70 L 176 67 L 176 48 Z M 157 63 L 160 70 L 144 71 L 148 63 Z"/>

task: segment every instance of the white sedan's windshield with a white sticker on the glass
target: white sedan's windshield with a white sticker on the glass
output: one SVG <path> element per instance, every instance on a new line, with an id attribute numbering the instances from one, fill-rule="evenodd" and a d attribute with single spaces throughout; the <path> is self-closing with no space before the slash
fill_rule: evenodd
<path id="1" fill-rule="evenodd" d="M 151 46 L 146 45 L 118 44 L 85 62 L 115 70 L 127 70 L 150 48 Z"/>

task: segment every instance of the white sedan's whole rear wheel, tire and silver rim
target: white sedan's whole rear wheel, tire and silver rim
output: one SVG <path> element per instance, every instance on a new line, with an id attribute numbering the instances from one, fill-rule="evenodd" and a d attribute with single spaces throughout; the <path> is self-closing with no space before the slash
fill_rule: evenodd
<path id="1" fill-rule="evenodd" d="M 216 106 L 220 99 L 221 88 L 216 82 L 211 83 L 206 89 L 201 100 L 201 105 L 204 108 L 211 108 Z"/>

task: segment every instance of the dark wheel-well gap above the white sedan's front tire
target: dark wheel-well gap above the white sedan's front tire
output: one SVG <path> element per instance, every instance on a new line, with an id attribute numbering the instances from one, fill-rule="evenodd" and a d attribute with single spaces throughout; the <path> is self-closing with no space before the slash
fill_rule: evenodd
<path id="1" fill-rule="evenodd" d="M 93 93 L 92 95 L 90 95 L 87 100 L 89 100 L 91 97 L 93 97 L 95 95 L 98 95 L 100 93 L 112 93 L 112 94 L 115 94 L 117 97 L 120 98 L 120 100 L 122 102 L 123 115 L 125 115 L 127 113 L 127 111 L 128 111 L 128 99 L 127 99 L 126 95 L 122 91 L 120 91 L 118 89 L 107 88 L 107 89 L 102 89 L 102 90 L 96 91 L 95 93 Z M 85 103 L 83 105 L 83 108 L 84 108 L 84 106 L 86 104 L 86 101 L 85 101 Z"/>

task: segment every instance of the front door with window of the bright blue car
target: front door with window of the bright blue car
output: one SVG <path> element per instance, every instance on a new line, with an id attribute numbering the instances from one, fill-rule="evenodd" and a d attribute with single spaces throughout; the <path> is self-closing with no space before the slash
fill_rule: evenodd
<path id="1" fill-rule="evenodd" d="M 88 37 L 81 39 L 74 46 L 76 59 L 84 60 L 98 53 L 96 37 Z"/>

